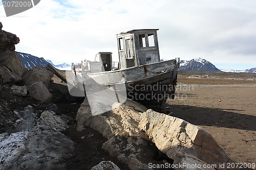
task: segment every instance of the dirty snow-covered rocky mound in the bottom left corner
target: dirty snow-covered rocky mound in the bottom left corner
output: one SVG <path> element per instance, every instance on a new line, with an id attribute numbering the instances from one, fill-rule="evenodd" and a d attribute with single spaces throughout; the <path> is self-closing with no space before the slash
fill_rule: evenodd
<path id="1" fill-rule="evenodd" d="M 0 169 L 63 169 L 73 142 L 59 130 L 68 120 L 45 111 L 37 118 L 32 106 L 15 111 L 20 119 L 13 129 L 0 134 Z M 59 128 L 57 128 L 59 127 Z"/>

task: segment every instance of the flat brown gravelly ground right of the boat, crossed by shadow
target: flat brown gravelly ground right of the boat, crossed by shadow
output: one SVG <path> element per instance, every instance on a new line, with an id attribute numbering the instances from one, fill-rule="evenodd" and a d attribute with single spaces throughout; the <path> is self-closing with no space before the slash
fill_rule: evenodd
<path id="1" fill-rule="evenodd" d="M 234 161 L 256 163 L 256 74 L 178 75 L 178 84 L 187 85 L 167 101 L 171 115 L 207 130 Z"/>

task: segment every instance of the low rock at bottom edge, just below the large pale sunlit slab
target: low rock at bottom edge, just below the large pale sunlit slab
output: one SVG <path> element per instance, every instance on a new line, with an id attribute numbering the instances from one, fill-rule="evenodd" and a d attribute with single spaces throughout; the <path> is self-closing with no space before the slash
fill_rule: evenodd
<path id="1" fill-rule="evenodd" d="M 174 158 L 174 169 L 176 170 L 188 170 L 188 169 L 198 169 L 198 170 L 215 170 L 214 167 L 205 163 L 204 161 L 198 159 L 197 157 L 186 154 L 184 152 L 177 152 Z M 213 165 L 215 166 L 215 165 Z"/>

